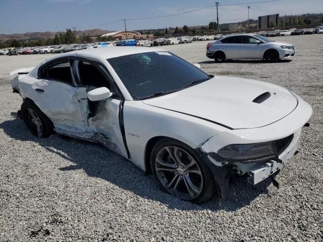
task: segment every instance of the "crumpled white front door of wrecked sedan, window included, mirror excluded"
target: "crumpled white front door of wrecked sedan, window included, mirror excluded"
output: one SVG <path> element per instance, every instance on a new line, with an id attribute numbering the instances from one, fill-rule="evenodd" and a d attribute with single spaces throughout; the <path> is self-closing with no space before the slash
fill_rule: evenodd
<path id="1" fill-rule="evenodd" d="M 73 58 L 71 63 L 78 89 L 76 98 L 79 101 L 86 127 L 83 135 L 87 140 L 101 143 L 128 157 L 119 122 L 121 97 L 113 84 L 111 75 L 103 66 L 87 59 Z M 99 101 L 98 110 L 93 115 L 89 110 L 87 93 L 99 87 L 108 88 L 114 95 Z"/>

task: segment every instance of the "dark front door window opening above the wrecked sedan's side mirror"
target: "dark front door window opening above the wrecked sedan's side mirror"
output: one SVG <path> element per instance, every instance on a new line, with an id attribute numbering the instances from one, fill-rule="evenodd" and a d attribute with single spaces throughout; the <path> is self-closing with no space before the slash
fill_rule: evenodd
<path id="1" fill-rule="evenodd" d="M 109 81 L 92 64 L 84 61 L 78 61 L 79 80 L 81 85 L 106 87 L 111 90 Z"/>

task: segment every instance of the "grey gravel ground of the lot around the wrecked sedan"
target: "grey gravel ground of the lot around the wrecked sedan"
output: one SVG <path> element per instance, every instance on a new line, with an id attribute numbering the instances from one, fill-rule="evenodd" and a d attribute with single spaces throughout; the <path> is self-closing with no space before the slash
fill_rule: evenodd
<path id="1" fill-rule="evenodd" d="M 323 241 L 323 35 L 291 42 L 291 62 L 213 63 L 206 42 L 166 46 L 210 74 L 281 85 L 313 107 L 299 153 L 277 180 L 235 181 L 235 196 L 198 206 L 161 192 L 152 176 L 104 147 L 59 135 L 33 137 L 8 73 L 46 56 L 0 56 L 0 241 Z"/>

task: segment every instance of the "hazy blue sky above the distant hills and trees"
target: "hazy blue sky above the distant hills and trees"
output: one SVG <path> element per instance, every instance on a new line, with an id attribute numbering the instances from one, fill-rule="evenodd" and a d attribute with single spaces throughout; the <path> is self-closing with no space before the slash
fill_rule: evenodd
<path id="1" fill-rule="evenodd" d="M 323 12 L 323 0 L 254 3 L 263 1 L 266 0 L 219 0 L 219 23 L 246 20 L 247 6 L 250 6 L 250 19 L 276 13 Z M 199 11 L 165 18 L 127 20 L 127 30 L 202 25 L 216 18 L 214 5 L 209 0 L 0 0 L 0 34 L 57 32 L 73 27 L 77 27 L 77 30 L 100 28 L 119 31 L 124 30 L 122 19 L 157 17 L 194 10 Z"/>

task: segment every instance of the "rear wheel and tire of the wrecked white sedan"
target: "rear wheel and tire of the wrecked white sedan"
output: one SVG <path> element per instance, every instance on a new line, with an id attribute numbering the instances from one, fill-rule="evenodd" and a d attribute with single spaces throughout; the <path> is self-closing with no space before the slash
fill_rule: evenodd
<path id="1" fill-rule="evenodd" d="M 52 134 L 53 124 L 50 119 L 30 99 L 25 100 L 21 105 L 21 115 L 34 136 L 46 138 Z"/>

